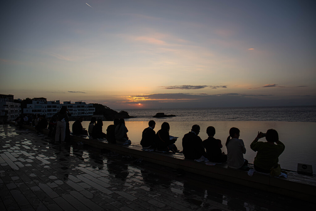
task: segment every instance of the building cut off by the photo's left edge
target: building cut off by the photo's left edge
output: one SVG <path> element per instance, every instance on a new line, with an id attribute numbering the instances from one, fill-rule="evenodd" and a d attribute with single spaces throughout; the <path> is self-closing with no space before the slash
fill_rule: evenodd
<path id="1" fill-rule="evenodd" d="M 13 95 L 0 95 L 1 122 L 14 121 L 20 113 L 20 103 L 14 102 Z"/>

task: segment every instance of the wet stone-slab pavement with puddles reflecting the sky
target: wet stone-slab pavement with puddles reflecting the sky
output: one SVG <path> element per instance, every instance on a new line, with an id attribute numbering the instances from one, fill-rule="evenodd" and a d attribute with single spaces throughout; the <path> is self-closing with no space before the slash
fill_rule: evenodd
<path id="1" fill-rule="evenodd" d="M 315 204 L 0 127 L 0 210 L 312 210 Z"/>

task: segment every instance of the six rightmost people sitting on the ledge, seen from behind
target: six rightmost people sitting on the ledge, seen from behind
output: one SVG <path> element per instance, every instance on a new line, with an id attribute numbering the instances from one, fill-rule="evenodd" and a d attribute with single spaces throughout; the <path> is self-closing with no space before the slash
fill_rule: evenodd
<path id="1" fill-rule="evenodd" d="M 162 123 L 161 129 L 155 133 L 155 121 L 149 121 L 149 127 L 144 129 L 142 134 L 141 145 L 143 149 L 154 149 L 157 151 L 179 152 L 175 146 L 172 136 L 169 139 L 170 126 L 167 122 Z M 208 138 L 204 141 L 198 136 L 200 126 L 193 125 L 191 131 L 186 133 L 182 138 L 183 154 L 186 159 L 199 160 L 205 159 L 214 163 L 227 162 L 228 167 L 248 171 L 248 161 L 244 159 L 243 154 L 246 153 L 244 141 L 239 139 L 240 130 L 232 127 L 229 130 L 229 136 L 225 146 L 227 154 L 222 152 L 222 142 L 215 139 L 215 128 L 207 127 L 206 133 Z M 266 142 L 258 141 L 265 137 Z M 252 141 L 250 148 L 257 152 L 254 158 L 254 168 L 256 171 L 279 175 L 281 171 L 278 164 L 278 157 L 284 151 L 284 144 L 279 140 L 276 130 L 269 129 L 266 133 L 258 132 L 257 137 Z M 180 152 L 181 153 L 181 152 Z"/>

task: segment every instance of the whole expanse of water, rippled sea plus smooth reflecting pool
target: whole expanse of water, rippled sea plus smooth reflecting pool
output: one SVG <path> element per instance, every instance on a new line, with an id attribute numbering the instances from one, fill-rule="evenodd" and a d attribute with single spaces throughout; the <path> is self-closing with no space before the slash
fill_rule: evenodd
<path id="1" fill-rule="evenodd" d="M 316 106 L 301 107 L 250 107 L 250 108 L 211 108 L 211 109 L 129 109 L 125 110 L 137 118 L 125 119 L 129 132 L 128 137 L 134 144 L 140 144 L 143 129 L 148 127 L 148 121 L 156 121 L 157 132 L 163 121 L 170 124 L 170 135 L 179 137 L 177 147 L 182 150 L 182 138 L 191 130 L 192 125 L 201 127 L 199 136 L 207 139 L 206 128 L 216 129 L 215 138 L 221 139 L 223 152 L 227 152 L 225 142 L 231 127 L 240 129 L 240 139 L 244 140 L 246 154 L 244 158 L 253 163 L 256 152 L 250 149 L 250 144 L 258 131 L 266 132 L 273 128 L 279 133 L 279 139 L 285 144 L 285 151 L 279 157 L 279 164 L 284 169 L 295 170 L 297 163 L 310 164 L 316 167 Z M 177 115 L 170 118 L 152 118 L 158 112 Z M 231 114 L 232 115 L 231 117 Z M 72 125 L 73 122 L 70 122 Z M 89 121 L 82 122 L 88 128 Z M 103 132 L 106 133 L 112 121 L 103 121 Z M 261 139 L 260 141 L 265 141 Z"/>

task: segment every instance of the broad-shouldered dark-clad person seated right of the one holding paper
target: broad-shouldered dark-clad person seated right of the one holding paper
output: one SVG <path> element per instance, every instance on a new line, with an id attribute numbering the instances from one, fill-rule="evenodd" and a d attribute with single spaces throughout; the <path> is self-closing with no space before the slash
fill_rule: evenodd
<path id="1" fill-rule="evenodd" d="M 198 136 L 200 126 L 193 125 L 191 132 L 186 133 L 182 139 L 184 157 L 187 159 L 199 159 L 205 155 L 202 139 Z"/>

